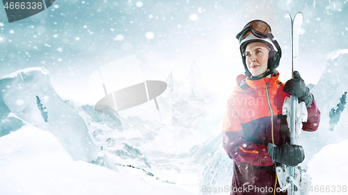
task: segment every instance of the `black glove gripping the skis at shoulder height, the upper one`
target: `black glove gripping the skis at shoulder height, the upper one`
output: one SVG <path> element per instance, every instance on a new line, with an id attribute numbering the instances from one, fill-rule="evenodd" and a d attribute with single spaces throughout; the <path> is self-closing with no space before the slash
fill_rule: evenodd
<path id="1" fill-rule="evenodd" d="M 313 96 L 310 94 L 309 88 L 306 87 L 298 71 L 294 71 L 294 78 L 287 80 L 283 91 L 292 96 L 296 96 L 299 102 L 304 101 L 307 108 L 313 103 Z"/>

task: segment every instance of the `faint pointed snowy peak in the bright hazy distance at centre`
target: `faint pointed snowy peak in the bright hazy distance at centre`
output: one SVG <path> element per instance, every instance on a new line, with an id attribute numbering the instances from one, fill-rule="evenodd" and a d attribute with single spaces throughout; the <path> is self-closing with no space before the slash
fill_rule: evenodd
<path id="1" fill-rule="evenodd" d="M 218 98 L 206 87 L 197 63 L 192 62 L 186 79 L 178 80 L 171 73 L 165 82 L 168 87 L 163 97 L 171 105 L 171 124 L 197 130 L 201 128 L 200 132 L 210 135 L 216 122 L 221 120 L 221 110 L 216 109 Z"/>

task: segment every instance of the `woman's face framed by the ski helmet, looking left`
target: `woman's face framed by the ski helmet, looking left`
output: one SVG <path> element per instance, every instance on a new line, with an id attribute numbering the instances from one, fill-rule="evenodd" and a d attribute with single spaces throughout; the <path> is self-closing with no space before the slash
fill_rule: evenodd
<path id="1" fill-rule="evenodd" d="M 267 71 L 269 49 L 262 42 L 251 42 L 246 46 L 246 67 L 253 76 L 262 77 Z"/>

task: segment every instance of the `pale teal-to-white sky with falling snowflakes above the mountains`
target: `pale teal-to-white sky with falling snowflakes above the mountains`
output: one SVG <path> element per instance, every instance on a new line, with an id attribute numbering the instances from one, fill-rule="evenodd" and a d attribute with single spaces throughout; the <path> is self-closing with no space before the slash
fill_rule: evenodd
<path id="1" fill-rule="evenodd" d="M 347 49 L 346 1 L 77 1 L 57 0 L 47 10 L 8 23 L 0 10 L 0 76 L 26 67 L 45 67 L 59 95 L 96 103 L 89 77 L 98 67 L 136 54 L 146 80 L 173 71 L 184 79 L 196 61 L 208 87 L 230 93 L 244 73 L 235 35 L 252 19 L 263 19 L 283 49 L 280 80 L 291 76 L 290 20 L 303 12 L 300 66 L 316 84 L 326 55 Z"/>

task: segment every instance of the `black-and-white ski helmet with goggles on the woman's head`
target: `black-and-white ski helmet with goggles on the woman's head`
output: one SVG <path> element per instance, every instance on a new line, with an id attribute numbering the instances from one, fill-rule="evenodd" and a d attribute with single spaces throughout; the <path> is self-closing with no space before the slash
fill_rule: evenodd
<path id="1" fill-rule="evenodd" d="M 237 34 L 236 38 L 239 40 L 239 50 L 242 55 L 242 62 L 245 69 L 244 74 L 249 78 L 251 77 L 251 73 L 248 70 L 248 67 L 246 67 L 246 56 L 244 52 L 246 46 L 251 42 L 262 42 L 269 47 L 270 51 L 267 68 L 271 72 L 279 66 L 282 51 L 276 38 L 271 33 L 271 26 L 266 22 L 259 19 L 248 22 L 243 30 Z"/>

